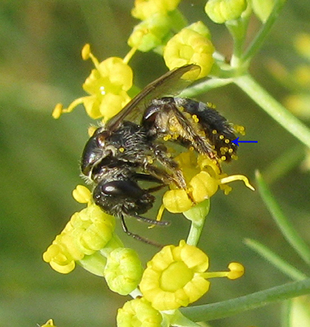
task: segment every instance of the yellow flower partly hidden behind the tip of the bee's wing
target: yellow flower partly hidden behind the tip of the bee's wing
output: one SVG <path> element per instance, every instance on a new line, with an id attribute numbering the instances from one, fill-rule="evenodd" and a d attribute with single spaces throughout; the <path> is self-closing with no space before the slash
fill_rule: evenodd
<path id="1" fill-rule="evenodd" d="M 201 67 L 198 78 L 209 74 L 214 63 L 214 46 L 210 41 L 209 30 L 202 28 L 201 22 L 183 28 L 175 34 L 164 48 L 164 61 L 169 69 L 185 64 L 197 64 Z"/>

